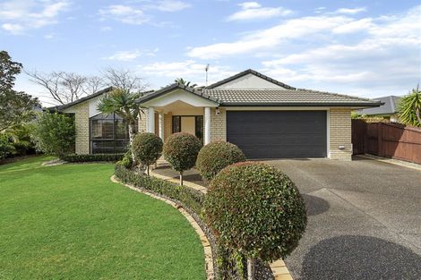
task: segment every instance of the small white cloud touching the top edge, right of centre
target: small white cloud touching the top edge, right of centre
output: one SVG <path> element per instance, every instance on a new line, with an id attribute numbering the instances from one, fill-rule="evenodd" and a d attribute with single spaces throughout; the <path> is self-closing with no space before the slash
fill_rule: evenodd
<path id="1" fill-rule="evenodd" d="M 245 2 L 238 4 L 241 10 L 228 16 L 227 21 L 252 21 L 263 20 L 292 13 L 283 7 L 262 7 L 257 2 Z"/>

